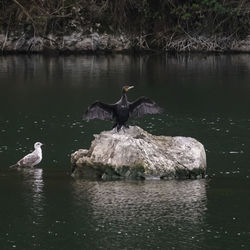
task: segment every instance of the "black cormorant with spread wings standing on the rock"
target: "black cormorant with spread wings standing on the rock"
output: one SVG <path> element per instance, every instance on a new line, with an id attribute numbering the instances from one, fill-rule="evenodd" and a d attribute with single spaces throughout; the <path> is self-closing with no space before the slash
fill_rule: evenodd
<path id="1" fill-rule="evenodd" d="M 84 119 L 89 121 L 91 119 L 114 120 L 113 128 L 117 131 L 122 126 L 128 128 L 127 120 L 131 118 L 141 117 L 145 114 L 158 114 L 163 110 L 153 100 L 142 96 L 134 102 L 129 102 L 126 93 L 134 88 L 134 86 L 124 86 L 122 88 L 121 99 L 114 104 L 105 104 L 100 101 L 94 102 L 88 107 Z"/>

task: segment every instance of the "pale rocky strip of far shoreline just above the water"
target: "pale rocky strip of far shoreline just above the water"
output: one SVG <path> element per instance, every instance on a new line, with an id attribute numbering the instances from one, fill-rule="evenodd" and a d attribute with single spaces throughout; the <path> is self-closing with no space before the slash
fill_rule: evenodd
<path id="1" fill-rule="evenodd" d="M 141 36 L 125 34 L 83 34 L 67 36 L 30 36 L 26 33 L 0 34 L 1 55 L 9 54 L 154 54 L 154 53 L 250 53 L 250 35 L 243 40 L 228 37 L 182 36 L 166 39 L 164 45 L 154 48 Z"/>

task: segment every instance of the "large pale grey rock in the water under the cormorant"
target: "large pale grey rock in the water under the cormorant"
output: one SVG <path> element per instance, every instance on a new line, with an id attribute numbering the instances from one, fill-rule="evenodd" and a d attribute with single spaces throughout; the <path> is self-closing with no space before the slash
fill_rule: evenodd
<path id="1" fill-rule="evenodd" d="M 71 155 L 73 176 L 105 180 L 205 176 L 206 153 L 193 138 L 155 136 L 137 126 L 94 137 L 89 150 Z"/>

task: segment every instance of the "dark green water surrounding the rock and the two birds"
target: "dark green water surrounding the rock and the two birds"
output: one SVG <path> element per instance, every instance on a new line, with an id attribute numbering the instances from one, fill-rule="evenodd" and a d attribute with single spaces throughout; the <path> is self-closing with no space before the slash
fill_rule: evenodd
<path id="1" fill-rule="evenodd" d="M 166 113 L 137 124 L 191 136 L 206 180 L 74 180 L 70 154 L 112 123 L 99 99 L 146 95 Z M 250 55 L 0 57 L 0 249 L 250 249 Z M 8 166 L 45 143 L 35 170 Z"/>

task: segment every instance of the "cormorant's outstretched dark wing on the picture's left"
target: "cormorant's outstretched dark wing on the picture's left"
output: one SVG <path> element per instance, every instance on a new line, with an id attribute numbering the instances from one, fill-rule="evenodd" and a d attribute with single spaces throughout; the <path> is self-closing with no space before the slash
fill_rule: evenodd
<path id="1" fill-rule="evenodd" d="M 113 118 L 114 104 L 105 104 L 99 101 L 90 105 L 83 117 L 83 119 L 87 121 L 91 119 L 113 120 Z"/>

